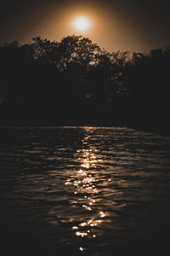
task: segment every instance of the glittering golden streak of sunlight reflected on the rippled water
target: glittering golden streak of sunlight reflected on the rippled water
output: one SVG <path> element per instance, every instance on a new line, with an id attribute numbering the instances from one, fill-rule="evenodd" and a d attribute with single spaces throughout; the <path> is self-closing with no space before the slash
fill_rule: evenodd
<path id="1" fill-rule="evenodd" d="M 77 153 L 75 154 L 80 168 L 77 172 L 74 172 L 71 178 L 66 180 L 65 185 L 75 187 L 74 194 L 77 195 L 77 200 L 72 201 L 72 204 L 75 207 L 82 208 L 82 217 L 79 221 L 77 220 L 76 225 L 72 226 L 72 230 L 81 239 L 85 237 L 95 239 L 99 234 L 99 226 L 104 222 L 106 214 L 102 209 L 99 211 L 99 206 L 96 206 L 96 195 L 99 194 L 99 178 L 94 176 L 94 171 L 96 170 L 99 159 L 97 149 L 88 145 L 91 133 L 90 128 L 88 128 L 87 132 L 89 134 L 82 142 L 85 147 L 77 149 Z M 87 248 L 79 247 L 80 251 L 84 249 Z"/>

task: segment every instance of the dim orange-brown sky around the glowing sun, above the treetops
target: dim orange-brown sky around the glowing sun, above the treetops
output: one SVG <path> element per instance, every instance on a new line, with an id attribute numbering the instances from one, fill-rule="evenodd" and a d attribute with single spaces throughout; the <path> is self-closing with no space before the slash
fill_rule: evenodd
<path id="1" fill-rule="evenodd" d="M 82 12 L 94 22 L 82 35 L 102 48 L 148 52 L 170 44 L 169 0 L 1 0 L 0 43 L 35 36 L 59 41 L 77 34 L 68 24 Z"/>

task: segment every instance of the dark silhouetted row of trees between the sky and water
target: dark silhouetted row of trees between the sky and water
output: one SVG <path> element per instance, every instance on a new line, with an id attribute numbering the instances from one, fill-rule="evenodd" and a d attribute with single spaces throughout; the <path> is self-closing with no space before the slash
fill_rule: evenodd
<path id="1" fill-rule="evenodd" d="M 1 122 L 167 123 L 170 46 L 108 52 L 89 38 L 0 46 Z"/>

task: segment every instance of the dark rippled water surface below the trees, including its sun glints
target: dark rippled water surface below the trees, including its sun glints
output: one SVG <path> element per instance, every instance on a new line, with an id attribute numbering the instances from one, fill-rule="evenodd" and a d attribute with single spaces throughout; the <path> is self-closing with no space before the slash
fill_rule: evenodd
<path id="1" fill-rule="evenodd" d="M 0 141 L 0 232 L 8 255 L 139 254 L 168 246 L 170 138 L 43 127 L 0 129 Z"/>

